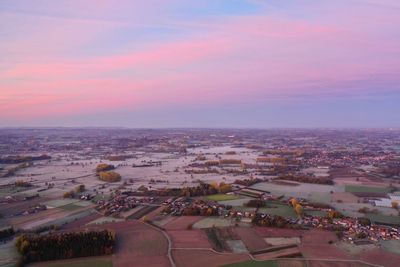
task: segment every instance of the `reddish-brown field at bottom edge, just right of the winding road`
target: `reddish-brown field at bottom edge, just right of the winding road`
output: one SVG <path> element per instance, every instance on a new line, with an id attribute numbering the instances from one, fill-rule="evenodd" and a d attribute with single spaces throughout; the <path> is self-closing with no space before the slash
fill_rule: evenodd
<path id="1" fill-rule="evenodd" d="M 245 254 L 217 254 L 207 250 L 173 250 L 177 267 L 217 267 L 225 264 L 250 260 Z"/>

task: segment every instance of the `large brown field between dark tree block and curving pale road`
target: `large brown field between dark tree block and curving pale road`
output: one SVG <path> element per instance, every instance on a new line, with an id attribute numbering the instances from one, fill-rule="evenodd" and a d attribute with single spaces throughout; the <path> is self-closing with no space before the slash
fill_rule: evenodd
<path id="1" fill-rule="evenodd" d="M 117 247 L 113 256 L 114 267 L 170 266 L 165 236 L 140 221 L 126 221 L 93 226 L 94 229 L 113 229 L 117 233 Z"/>

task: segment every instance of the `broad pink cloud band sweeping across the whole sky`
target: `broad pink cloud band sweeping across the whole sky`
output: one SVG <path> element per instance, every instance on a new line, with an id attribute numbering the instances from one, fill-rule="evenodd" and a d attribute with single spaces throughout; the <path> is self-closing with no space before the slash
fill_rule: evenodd
<path id="1" fill-rule="evenodd" d="M 299 93 L 326 93 L 330 87 L 321 88 L 322 83 L 345 93 L 337 84 L 400 69 L 398 60 L 390 58 L 400 52 L 396 39 L 383 42 L 376 38 L 380 33 L 354 34 L 340 24 L 264 16 L 205 22 L 202 27 L 207 32 L 123 54 L 69 58 L 58 49 L 46 53 L 54 45 L 68 49 L 100 34 L 92 32 L 92 26 L 79 29 L 79 25 L 66 28 L 66 36 L 60 32 L 49 47 L 30 52 L 32 60 L 27 63 L 6 66 L 0 73 L 0 117 L 236 103 L 260 96 L 289 98 Z M 56 27 L 47 29 L 30 38 L 45 43 L 49 33 L 57 31 Z M 373 53 L 385 57 L 369 57 Z M 40 56 L 44 58 L 37 60 Z"/>

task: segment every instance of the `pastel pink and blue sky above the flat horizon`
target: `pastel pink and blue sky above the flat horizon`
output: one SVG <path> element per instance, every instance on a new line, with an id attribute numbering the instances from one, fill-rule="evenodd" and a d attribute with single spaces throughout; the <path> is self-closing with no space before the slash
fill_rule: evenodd
<path id="1" fill-rule="evenodd" d="M 21 126 L 400 127 L 400 2 L 1 0 Z"/>

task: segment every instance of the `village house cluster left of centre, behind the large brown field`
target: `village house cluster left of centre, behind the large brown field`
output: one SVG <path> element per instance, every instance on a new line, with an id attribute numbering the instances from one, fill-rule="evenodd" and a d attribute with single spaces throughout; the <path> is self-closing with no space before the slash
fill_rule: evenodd
<path id="1" fill-rule="evenodd" d="M 97 201 L 96 210 L 102 212 L 105 216 L 117 216 L 121 212 L 133 209 L 141 204 L 149 204 L 154 202 L 154 197 L 133 197 L 118 194 L 109 200 Z"/>

